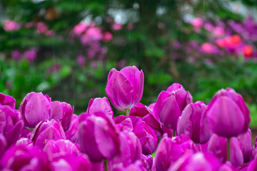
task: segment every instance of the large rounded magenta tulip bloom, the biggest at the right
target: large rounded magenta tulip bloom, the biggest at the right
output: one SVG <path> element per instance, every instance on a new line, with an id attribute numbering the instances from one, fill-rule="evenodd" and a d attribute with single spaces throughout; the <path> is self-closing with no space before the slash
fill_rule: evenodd
<path id="1" fill-rule="evenodd" d="M 221 89 L 208 104 L 208 123 L 219 136 L 231 138 L 246 133 L 250 123 L 249 110 L 240 94 L 232 88 Z"/>

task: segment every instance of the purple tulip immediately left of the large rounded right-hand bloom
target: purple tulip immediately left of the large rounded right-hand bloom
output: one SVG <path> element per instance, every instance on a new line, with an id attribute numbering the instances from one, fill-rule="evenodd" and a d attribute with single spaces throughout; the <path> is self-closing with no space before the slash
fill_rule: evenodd
<path id="1" fill-rule="evenodd" d="M 178 118 L 178 135 L 184 134 L 196 143 L 206 143 L 212 135 L 207 123 L 206 110 L 207 106 L 201 101 L 188 104 Z"/>

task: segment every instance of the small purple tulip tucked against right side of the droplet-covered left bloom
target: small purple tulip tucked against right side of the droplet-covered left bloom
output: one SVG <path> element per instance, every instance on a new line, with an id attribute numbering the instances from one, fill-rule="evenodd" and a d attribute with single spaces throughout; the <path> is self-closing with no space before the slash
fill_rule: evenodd
<path id="1" fill-rule="evenodd" d="M 74 107 L 65 102 L 53 101 L 51 102 L 51 119 L 60 120 L 64 131 L 68 130 L 71 125 Z"/>

